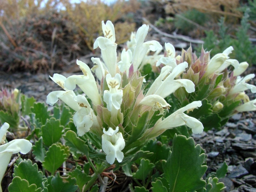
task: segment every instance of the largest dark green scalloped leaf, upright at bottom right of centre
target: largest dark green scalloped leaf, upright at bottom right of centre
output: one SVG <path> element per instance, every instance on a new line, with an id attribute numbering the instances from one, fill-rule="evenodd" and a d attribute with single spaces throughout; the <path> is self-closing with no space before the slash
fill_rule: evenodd
<path id="1" fill-rule="evenodd" d="M 203 165 L 205 154 L 201 154 L 200 145 L 195 146 L 192 137 L 176 135 L 173 138 L 173 148 L 167 162 L 163 165 L 163 177 L 170 184 L 170 191 L 195 191 L 204 187 L 206 182 L 201 177 L 207 166 Z"/>

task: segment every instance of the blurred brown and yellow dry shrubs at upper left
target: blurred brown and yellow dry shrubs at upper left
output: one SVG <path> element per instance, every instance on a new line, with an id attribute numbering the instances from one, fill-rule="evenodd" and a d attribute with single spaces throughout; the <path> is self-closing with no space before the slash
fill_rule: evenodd
<path id="1" fill-rule="evenodd" d="M 42 0 L 37 2 L 0 1 L 0 70 L 61 69 L 93 50 L 94 40 L 102 35 L 101 20 L 115 23 L 116 43 L 123 43 L 135 30 L 125 15 L 140 8 L 136 0 L 119 0 L 112 6 L 100 0 L 48 0 L 44 8 Z M 67 11 L 58 10 L 60 3 Z"/>

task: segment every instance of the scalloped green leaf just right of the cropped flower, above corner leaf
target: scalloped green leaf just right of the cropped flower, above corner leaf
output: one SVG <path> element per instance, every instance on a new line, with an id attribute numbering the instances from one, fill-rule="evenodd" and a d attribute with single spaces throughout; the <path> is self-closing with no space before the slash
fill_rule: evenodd
<path id="1" fill-rule="evenodd" d="M 27 180 L 29 185 L 35 184 L 37 188 L 43 188 L 43 172 L 38 171 L 37 164 L 32 164 L 30 159 L 21 161 L 18 166 L 15 165 L 13 172 L 13 177 L 20 177 Z"/>

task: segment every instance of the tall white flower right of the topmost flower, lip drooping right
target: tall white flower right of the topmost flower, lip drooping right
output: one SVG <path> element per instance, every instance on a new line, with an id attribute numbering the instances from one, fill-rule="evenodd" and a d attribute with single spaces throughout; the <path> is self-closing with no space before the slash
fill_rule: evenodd
<path id="1" fill-rule="evenodd" d="M 148 52 L 148 49 L 151 51 L 156 51 L 158 49 L 162 50 L 162 45 L 155 40 L 143 43 L 148 34 L 148 29 L 149 26 L 144 24 L 136 33 L 136 46 L 132 58 L 133 71 L 136 71 L 139 68 L 141 61 Z"/>

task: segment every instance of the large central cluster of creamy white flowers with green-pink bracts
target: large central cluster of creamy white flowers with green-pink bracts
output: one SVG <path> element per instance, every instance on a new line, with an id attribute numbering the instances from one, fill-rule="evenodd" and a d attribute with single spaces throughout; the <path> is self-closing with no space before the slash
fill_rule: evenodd
<path id="1" fill-rule="evenodd" d="M 142 25 L 136 35 L 132 33 L 127 49 L 122 51 L 121 60 L 117 62 L 114 25 L 111 21 L 106 24 L 102 21 L 104 37 L 98 37 L 93 46 L 94 49 L 100 48 L 102 60 L 92 57 L 92 69 L 77 60 L 82 75 L 66 78 L 54 74 L 51 77 L 64 91 L 49 93 L 46 103 L 53 105 L 60 99 L 74 109 L 73 121 L 78 136 L 86 137 L 90 132 L 101 140 L 109 164 L 113 164 L 115 159 L 119 163 L 124 161 L 131 151 L 140 150 L 148 140 L 167 129 L 181 125 L 187 125 L 194 133 L 201 133 L 204 129 L 200 121 L 185 113 L 200 107 L 201 101 L 191 102 L 164 118 L 171 108 L 165 97 L 180 87 L 184 87 L 188 93 L 195 91 L 191 80 L 176 79 L 188 67 L 187 62 L 163 67 L 149 90 L 143 93 L 145 79 L 140 75 L 140 65 L 148 51 L 159 53 L 162 50 L 157 41 L 144 42 L 148 29 L 148 25 Z M 168 62 L 175 61 L 173 55 L 170 51 Z M 73 90 L 76 85 L 84 94 L 75 95 Z M 87 99 L 92 101 L 91 105 Z M 154 124 L 150 123 L 153 119 L 157 119 Z"/>

